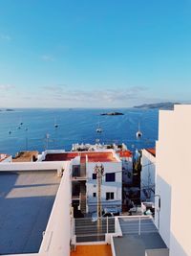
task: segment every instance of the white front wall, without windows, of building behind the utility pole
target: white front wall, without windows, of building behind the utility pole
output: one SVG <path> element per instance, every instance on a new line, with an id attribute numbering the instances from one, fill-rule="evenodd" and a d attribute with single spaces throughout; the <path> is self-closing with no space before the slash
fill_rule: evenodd
<path id="1" fill-rule="evenodd" d="M 86 182 L 87 186 L 87 201 L 89 212 L 96 211 L 96 201 L 97 198 L 93 198 L 93 193 L 97 194 L 96 179 L 93 179 L 93 174 L 95 173 L 96 164 L 100 163 L 87 163 L 86 172 L 88 180 Z M 122 199 L 122 164 L 121 162 L 107 162 L 102 163 L 104 166 L 104 176 L 102 178 L 101 184 L 101 201 L 103 207 L 106 206 L 117 206 L 118 210 L 121 211 L 121 199 Z M 105 174 L 116 173 L 115 182 L 106 182 Z M 114 192 L 114 200 L 106 200 L 106 192 Z"/>

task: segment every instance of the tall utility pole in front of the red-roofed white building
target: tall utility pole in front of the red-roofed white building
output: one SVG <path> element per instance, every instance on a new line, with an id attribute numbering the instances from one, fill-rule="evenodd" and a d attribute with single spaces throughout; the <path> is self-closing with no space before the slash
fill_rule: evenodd
<path id="1" fill-rule="evenodd" d="M 102 207 L 101 207 L 101 181 L 102 176 L 104 173 L 104 167 L 103 165 L 97 165 L 95 167 L 95 174 L 96 174 L 96 183 L 97 183 L 97 205 L 96 205 L 96 211 L 97 211 L 97 227 L 98 230 L 100 230 L 101 227 L 101 215 L 102 215 Z"/>

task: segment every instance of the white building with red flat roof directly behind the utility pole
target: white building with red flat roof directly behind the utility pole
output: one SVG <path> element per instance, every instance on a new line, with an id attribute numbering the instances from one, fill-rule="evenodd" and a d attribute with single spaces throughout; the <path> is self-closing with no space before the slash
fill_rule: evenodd
<path id="1" fill-rule="evenodd" d="M 71 161 L 73 166 L 73 206 L 83 214 L 96 211 L 97 185 L 96 165 L 103 165 L 101 184 L 102 208 L 117 207 L 122 204 L 122 163 L 114 150 L 102 151 L 45 151 L 44 161 Z"/>

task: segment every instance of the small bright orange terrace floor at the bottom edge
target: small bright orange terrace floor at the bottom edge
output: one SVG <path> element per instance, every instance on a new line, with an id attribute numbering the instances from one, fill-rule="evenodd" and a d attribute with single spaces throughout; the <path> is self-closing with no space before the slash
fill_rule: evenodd
<path id="1" fill-rule="evenodd" d="M 71 256 L 112 256 L 111 246 L 109 244 L 97 245 L 78 245 Z"/>

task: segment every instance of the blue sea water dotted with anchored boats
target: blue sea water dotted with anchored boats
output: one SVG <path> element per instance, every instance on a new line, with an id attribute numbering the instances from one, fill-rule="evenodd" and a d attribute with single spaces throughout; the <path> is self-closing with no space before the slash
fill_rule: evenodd
<path id="1" fill-rule="evenodd" d="M 157 109 L 123 108 L 120 116 L 100 116 L 114 109 L 15 109 L 0 112 L 0 152 L 71 150 L 73 143 L 122 143 L 130 150 L 155 147 L 158 139 Z M 23 123 L 22 125 L 20 125 Z M 58 128 L 54 127 L 54 124 Z M 96 133 L 100 124 L 101 134 Z M 143 133 L 137 139 L 138 123 Z M 9 133 L 11 131 L 11 134 Z M 49 134 L 47 145 L 46 134 Z"/>

